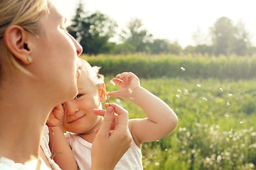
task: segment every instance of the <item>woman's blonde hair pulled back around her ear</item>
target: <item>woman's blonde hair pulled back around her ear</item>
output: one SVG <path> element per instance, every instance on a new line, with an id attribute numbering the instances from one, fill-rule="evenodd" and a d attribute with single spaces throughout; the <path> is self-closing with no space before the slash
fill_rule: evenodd
<path id="1" fill-rule="evenodd" d="M 20 26 L 24 30 L 36 35 L 38 21 L 48 11 L 49 0 L 0 0 L 0 56 L 5 58 L 11 67 L 30 74 L 19 64 L 4 42 L 6 28 L 11 25 Z M 0 62 L 1 72 L 1 62 Z M 1 74 L 1 73 L 0 73 Z"/>

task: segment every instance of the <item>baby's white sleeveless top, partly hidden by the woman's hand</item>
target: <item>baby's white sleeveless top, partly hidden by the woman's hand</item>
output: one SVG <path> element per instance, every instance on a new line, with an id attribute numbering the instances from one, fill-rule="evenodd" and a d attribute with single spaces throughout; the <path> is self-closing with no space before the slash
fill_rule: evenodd
<path id="1" fill-rule="evenodd" d="M 92 143 L 87 142 L 82 139 L 79 135 L 71 132 L 65 133 L 65 137 L 70 145 L 73 154 L 75 155 L 76 162 L 78 164 L 78 169 L 87 170 L 91 169 L 91 148 Z M 136 145 L 134 140 L 132 140 L 132 146 L 125 152 L 123 157 L 117 162 L 114 167 L 115 170 L 123 169 L 143 169 L 142 166 L 142 151 Z"/>

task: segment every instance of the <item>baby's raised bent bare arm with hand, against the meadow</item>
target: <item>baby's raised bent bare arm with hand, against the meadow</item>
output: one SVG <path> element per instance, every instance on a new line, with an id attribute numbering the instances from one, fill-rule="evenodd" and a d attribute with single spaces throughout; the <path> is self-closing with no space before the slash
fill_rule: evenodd
<path id="1" fill-rule="evenodd" d="M 121 89 L 110 92 L 109 96 L 129 98 L 146 113 L 147 118 L 129 120 L 129 128 L 138 146 L 142 142 L 159 140 L 176 128 L 178 118 L 174 111 L 160 98 L 140 86 L 136 75 L 124 72 L 118 74 L 113 81 Z"/>

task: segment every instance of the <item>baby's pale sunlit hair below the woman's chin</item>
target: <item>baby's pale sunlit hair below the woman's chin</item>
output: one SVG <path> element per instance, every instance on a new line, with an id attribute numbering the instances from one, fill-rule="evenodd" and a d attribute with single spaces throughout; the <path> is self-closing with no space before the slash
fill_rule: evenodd
<path id="1" fill-rule="evenodd" d="M 104 83 L 104 76 L 99 74 L 100 67 L 92 67 L 87 61 L 81 58 L 79 58 L 79 60 L 82 64 L 82 76 L 89 77 L 95 85 Z M 83 75 L 83 73 L 85 73 L 85 75 Z"/>

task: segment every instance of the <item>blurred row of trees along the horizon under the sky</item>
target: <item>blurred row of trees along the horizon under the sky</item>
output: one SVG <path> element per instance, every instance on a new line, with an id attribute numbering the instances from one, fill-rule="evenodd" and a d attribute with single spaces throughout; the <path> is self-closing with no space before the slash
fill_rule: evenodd
<path id="1" fill-rule="evenodd" d="M 127 29 L 119 35 L 121 41 L 118 44 L 117 42 L 110 42 L 110 38 L 116 34 L 114 31 L 117 28 L 115 21 L 100 12 L 88 15 L 82 7 L 82 1 L 80 1 L 72 24 L 67 30 L 80 42 L 84 54 L 129 54 L 135 52 L 174 55 L 184 52 L 188 54 L 214 54 L 216 56 L 255 54 L 255 47 L 251 47 L 250 35 L 245 30 L 242 21 L 234 26 L 230 18 L 220 17 L 210 28 L 211 45 L 201 42 L 202 35 L 198 30 L 194 35 L 196 46 L 188 45 L 183 50 L 178 42 L 170 43 L 165 39 L 154 39 L 153 35 L 142 27 L 142 20 L 138 18 L 129 21 Z M 115 38 L 117 37 L 115 36 Z"/>

